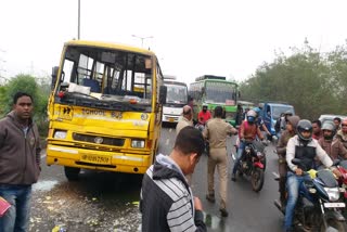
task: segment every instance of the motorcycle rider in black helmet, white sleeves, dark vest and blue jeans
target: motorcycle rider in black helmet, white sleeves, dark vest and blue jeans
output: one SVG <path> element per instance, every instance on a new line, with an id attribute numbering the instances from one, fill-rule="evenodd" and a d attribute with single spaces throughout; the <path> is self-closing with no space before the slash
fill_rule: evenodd
<path id="1" fill-rule="evenodd" d="M 286 146 L 286 163 L 288 165 L 286 188 L 287 204 L 284 216 L 284 231 L 293 231 L 292 222 L 296 202 L 298 199 L 299 186 L 305 179 L 309 179 L 308 171 L 314 167 L 314 159 L 318 158 L 326 168 L 330 168 L 337 177 L 340 172 L 333 167 L 333 162 L 326 152 L 320 146 L 317 140 L 312 139 L 312 124 L 307 119 L 301 119 L 297 124 L 297 134 L 288 140 Z M 304 167 L 298 167 L 292 163 L 293 158 L 303 160 Z"/>

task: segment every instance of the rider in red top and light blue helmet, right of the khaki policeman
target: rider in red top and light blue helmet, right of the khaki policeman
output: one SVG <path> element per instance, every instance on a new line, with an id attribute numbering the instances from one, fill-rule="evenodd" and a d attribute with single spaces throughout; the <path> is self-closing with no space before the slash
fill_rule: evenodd
<path id="1" fill-rule="evenodd" d="M 232 181 L 236 181 L 237 165 L 242 158 L 243 151 L 246 145 L 246 141 L 252 142 L 256 139 L 257 136 L 261 141 L 265 141 L 264 136 L 256 124 L 256 117 L 257 117 L 257 113 L 253 109 L 249 109 L 246 115 L 246 120 L 242 121 L 240 126 L 240 131 L 239 131 L 240 144 L 236 153 L 236 159 L 232 169 L 232 176 L 231 176 Z"/>

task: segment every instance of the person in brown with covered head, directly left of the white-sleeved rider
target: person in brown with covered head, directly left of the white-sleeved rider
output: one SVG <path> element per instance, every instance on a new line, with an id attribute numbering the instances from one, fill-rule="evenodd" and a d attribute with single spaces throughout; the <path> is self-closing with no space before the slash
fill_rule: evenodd
<path id="1" fill-rule="evenodd" d="M 290 116 L 286 123 L 286 129 L 282 131 L 280 140 L 277 145 L 277 153 L 279 155 L 279 192 L 280 192 L 280 203 L 282 208 L 285 205 L 285 180 L 286 180 L 286 172 L 287 172 L 287 165 L 285 162 L 285 154 L 286 154 L 286 144 L 288 140 L 296 134 L 296 126 L 300 120 L 299 116 Z"/>

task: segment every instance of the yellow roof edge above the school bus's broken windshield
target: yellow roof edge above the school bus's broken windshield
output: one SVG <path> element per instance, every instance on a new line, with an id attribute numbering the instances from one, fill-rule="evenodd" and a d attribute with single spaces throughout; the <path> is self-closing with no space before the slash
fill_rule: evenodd
<path id="1" fill-rule="evenodd" d="M 124 50 L 124 51 L 131 51 L 136 53 L 142 53 L 146 55 L 155 55 L 154 52 L 137 47 L 130 47 L 127 44 L 121 43 L 112 43 L 112 42 L 101 42 L 101 41 L 89 41 L 89 40 L 69 40 L 64 43 L 64 46 L 86 46 L 86 47 L 98 47 L 98 48 L 105 48 L 105 49 L 115 49 L 115 50 Z"/>

